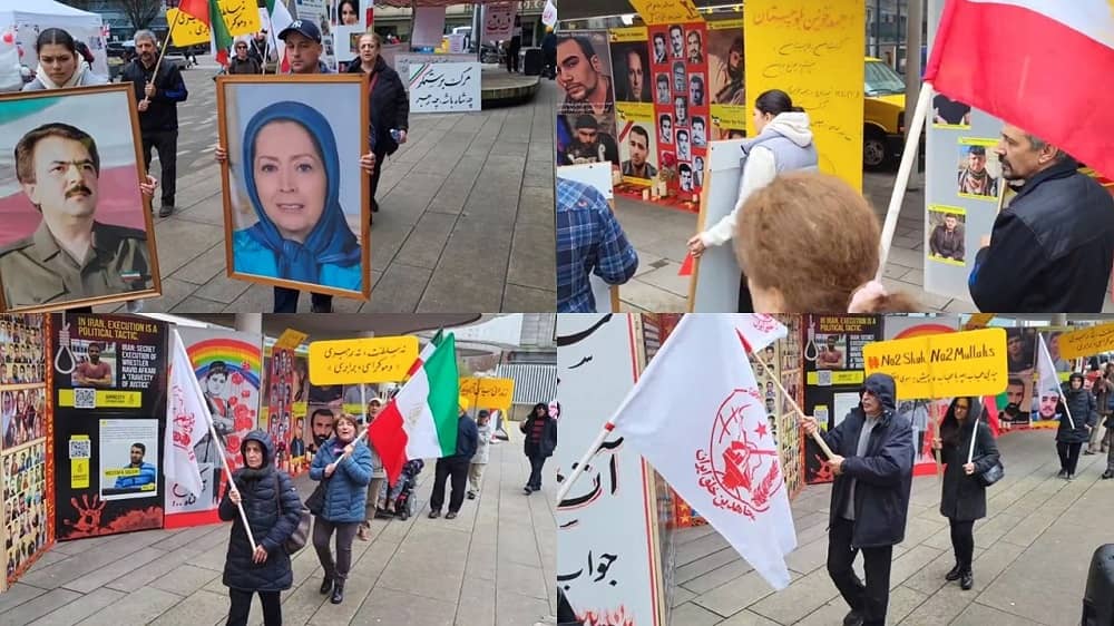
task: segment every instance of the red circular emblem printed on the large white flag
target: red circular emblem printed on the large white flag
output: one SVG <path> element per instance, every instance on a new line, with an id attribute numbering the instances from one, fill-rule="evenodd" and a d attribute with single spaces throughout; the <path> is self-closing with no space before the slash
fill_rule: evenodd
<path id="1" fill-rule="evenodd" d="M 761 407 L 759 397 L 758 390 L 732 391 L 720 404 L 707 449 L 696 451 L 698 483 L 712 495 L 712 505 L 752 520 L 770 508 L 771 497 L 784 483 L 765 421 L 747 431 L 743 413 Z"/>

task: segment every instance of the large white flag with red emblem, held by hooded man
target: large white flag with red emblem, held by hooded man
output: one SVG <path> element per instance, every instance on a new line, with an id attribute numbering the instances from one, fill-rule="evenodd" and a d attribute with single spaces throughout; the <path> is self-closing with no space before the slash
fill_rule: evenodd
<path id="1" fill-rule="evenodd" d="M 797 531 L 746 353 L 785 334 L 768 315 L 685 315 L 612 420 L 775 589 Z"/>

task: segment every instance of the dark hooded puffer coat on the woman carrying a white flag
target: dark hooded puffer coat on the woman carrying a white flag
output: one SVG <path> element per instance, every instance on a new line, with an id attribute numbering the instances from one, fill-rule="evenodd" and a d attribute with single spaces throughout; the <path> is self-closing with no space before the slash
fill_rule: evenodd
<path id="1" fill-rule="evenodd" d="M 233 472 L 232 478 L 236 482 L 236 489 L 240 490 L 255 542 L 266 548 L 267 560 L 257 565 L 252 561 L 252 545 L 244 531 L 240 511 L 228 498 L 231 489 L 226 488 L 218 513 L 221 519 L 233 524 L 223 581 L 226 587 L 245 591 L 283 591 L 290 589 L 294 581 L 290 555 L 286 554 L 284 544 L 297 528 L 302 515 L 302 499 L 299 498 L 290 476 L 275 469 L 274 448 L 267 433 L 261 430 L 250 432 L 241 444 L 241 451 L 253 440 L 262 443 L 266 450 L 263 468 L 258 470 L 242 468 Z"/>

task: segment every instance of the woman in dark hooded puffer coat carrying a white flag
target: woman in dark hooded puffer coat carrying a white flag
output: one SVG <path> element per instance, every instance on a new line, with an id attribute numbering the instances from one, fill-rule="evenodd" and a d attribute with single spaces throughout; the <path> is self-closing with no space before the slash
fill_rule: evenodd
<path id="1" fill-rule="evenodd" d="M 277 626 L 282 624 L 278 595 L 294 581 L 285 542 L 297 528 L 302 500 L 291 478 L 274 467 L 271 436 L 253 430 L 241 443 L 240 453 L 244 456 L 244 467 L 233 472 L 234 485 L 225 490 L 218 510 L 222 520 L 233 522 L 223 578 L 232 597 L 228 626 L 247 624 L 252 596 L 256 593 L 263 604 L 264 625 Z M 237 503 L 243 503 L 252 527 L 254 552 Z"/>

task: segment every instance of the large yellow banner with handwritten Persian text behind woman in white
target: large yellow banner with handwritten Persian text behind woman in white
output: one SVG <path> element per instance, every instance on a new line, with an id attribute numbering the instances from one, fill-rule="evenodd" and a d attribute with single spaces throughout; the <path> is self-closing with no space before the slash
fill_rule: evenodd
<path id="1" fill-rule="evenodd" d="M 866 4 L 750 0 L 743 18 L 747 102 L 770 89 L 789 94 L 809 114 L 820 170 L 862 190 Z"/>

